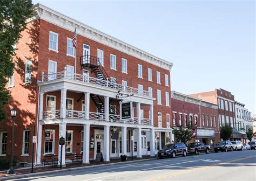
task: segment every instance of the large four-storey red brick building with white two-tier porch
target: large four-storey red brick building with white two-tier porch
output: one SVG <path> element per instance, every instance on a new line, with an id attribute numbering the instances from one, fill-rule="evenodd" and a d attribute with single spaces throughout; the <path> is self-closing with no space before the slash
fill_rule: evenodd
<path id="1" fill-rule="evenodd" d="M 97 152 L 106 162 L 131 152 L 154 156 L 160 143 L 170 143 L 172 63 L 42 4 L 35 12 L 16 45 L 8 85 L 6 112 L 17 108 L 17 161 L 31 162 L 34 126 L 37 164 L 54 155 L 60 161 L 60 137 L 63 164 L 74 154 L 82 154 L 83 163 Z M 9 156 L 10 115 L 1 128 L 0 156 Z"/>

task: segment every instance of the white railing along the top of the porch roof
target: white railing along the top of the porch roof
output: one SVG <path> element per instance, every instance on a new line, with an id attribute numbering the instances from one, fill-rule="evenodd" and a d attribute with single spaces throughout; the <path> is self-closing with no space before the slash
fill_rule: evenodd
<path id="1" fill-rule="evenodd" d="M 84 83 L 91 83 L 93 85 L 101 86 L 101 87 L 108 87 L 111 89 L 115 89 L 117 91 L 123 91 L 131 94 L 139 94 L 139 95 L 144 95 L 144 96 L 151 96 L 149 91 L 144 91 L 138 88 L 134 87 L 129 87 L 129 86 L 124 86 L 119 83 L 111 82 L 108 80 L 102 80 L 102 79 L 97 79 L 93 78 L 88 75 L 81 75 L 77 73 L 69 73 L 67 71 L 62 71 L 62 72 L 57 72 L 57 73 L 51 73 L 51 74 L 46 74 L 42 73 L 42 81 L 51 81 L 51 80 L 56 80 L 56 79 L 70 79 L 70 80 L 75 80 L 75 81 L 80 81 Z"/>

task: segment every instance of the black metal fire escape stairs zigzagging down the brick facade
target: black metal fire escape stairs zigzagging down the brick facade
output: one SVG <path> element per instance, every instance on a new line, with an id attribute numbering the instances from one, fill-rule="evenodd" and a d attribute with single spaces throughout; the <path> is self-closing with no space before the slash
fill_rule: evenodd
<path id="1" fill-rule="evenodd" d="M 104 67 L 100 63 L 99 59 L 97 57 L 93 57 L 91 55 L 84 55 L 80 57 L 80 66 L 81 69 L 83 68 L 90 68 L 91 73 L 94 73 L 96 75 L 97 79 L 101 80 L 109 80 L 110 82 L 117 83 L 116 79 L 111 79 L 109 75 L 107 75 Z M 95 102 L 95 105 L 98 109 L 99 113 L 105 113 L 104 110 L 104 98 L 103 96 L 96 95 L 96 94 L 90 94 L 91 99 L 93 102 Z M 110 100 L 110 103 L 113 99 Z M 119 110 L 115 110 L 113 108 L 109 108 L 110 114 L 116 114 L 120 115 Z"/>

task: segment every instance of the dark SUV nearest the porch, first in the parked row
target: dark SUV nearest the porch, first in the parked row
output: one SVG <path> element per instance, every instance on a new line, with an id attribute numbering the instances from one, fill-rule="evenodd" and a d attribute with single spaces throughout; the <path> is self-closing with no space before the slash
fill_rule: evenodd
<path id="1" fill-rule="evenodd" d="M 187 156 L 187 147 L 184 143 L 173 143 L 165 145 L 164 149 L 158 151 L 158 157 L 176 157 L 176 155 Z"/>

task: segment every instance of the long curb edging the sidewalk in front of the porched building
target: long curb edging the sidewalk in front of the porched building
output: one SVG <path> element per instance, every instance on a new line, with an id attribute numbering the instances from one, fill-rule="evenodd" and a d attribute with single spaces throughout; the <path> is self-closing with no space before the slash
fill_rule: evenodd
<path id="1" fill-rule="evenodd" d="M 107 164 L 91 165 L 91 166 L 80 166 L 80 167 L 76 167 L 76 168 L 69 168 L 69 169 L 63 169 L 63 170 L 42 171 L 42 172 L 37 172 L 37 173 L 26 173 L 24 175 L 0 177 L 0 180 L 8 180 L 8 179 L 17 179 L 17 178 L 41 176 L 41 175 L 47 175 L 49 173 L 56 173 L 56 172 L 63 172 L 63 171 L 70 171 L 70 170 L 90 169 L 90 168 L 103 167 L 103 166 L 111 166 L 111 165 L 119 165 L 119 164 L 126 164 L 126 163 L 144 162 L 144 161 L 151 161 L 151 160 L 154 160 L 154 159 L 157 159 L 157 158 L 138 159 L 138 160 L 135 160 L 135 161 L 107 163 Z"/>

